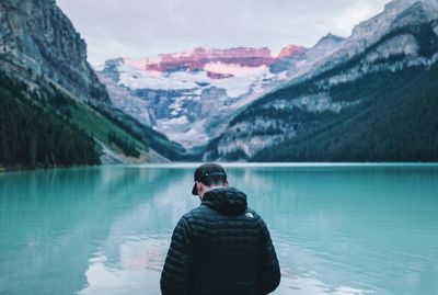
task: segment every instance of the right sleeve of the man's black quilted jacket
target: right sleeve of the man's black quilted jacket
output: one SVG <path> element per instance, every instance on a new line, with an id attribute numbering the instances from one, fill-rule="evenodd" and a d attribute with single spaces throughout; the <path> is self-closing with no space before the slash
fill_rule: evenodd
<path id="1" fill-rule="evenodd" d="M 277 254 L 270 239 L 270 234 L 263 219 L 261 219 L 261 227 L 264 237 L 264 249 L 262 251 L 262 266 L 260 276 L 261 288 L 262 294 L 268 294 L 276 290 L 276 287 L 279 285 L 281 275 Z"/>

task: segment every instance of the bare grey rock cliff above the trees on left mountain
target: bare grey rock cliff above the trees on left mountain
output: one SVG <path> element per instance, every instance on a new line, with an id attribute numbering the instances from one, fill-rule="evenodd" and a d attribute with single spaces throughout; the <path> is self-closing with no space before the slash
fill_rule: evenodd
<path id="1" fill-rule="evenodd" d="M 87 45 L 54 0 L 0 2 L 0 59 L 5 71 L 25 70 L 74 95 L 111 103 L 87 61 Z"/>

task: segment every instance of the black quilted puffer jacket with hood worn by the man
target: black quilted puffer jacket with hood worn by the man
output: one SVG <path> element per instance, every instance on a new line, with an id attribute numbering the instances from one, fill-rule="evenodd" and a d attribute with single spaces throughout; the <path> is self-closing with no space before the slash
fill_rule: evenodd
<path id="1" fill-rule="evenodd" d="M 279 284 L 265 222 L 237 189 L 214 189 L 176 225 L 161 273 L 163 295 L 261 295 Z"/>

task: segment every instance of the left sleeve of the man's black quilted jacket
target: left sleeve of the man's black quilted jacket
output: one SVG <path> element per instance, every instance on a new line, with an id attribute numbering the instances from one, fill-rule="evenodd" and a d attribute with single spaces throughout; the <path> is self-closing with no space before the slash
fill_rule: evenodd
<path id="1" fill-rule="evenodd" d="M 182 217 L 173 231 L 161 273 L 160 284 L 163 295 L 188 295 L 192 263 L 191 230 L 187 220 Z"/>

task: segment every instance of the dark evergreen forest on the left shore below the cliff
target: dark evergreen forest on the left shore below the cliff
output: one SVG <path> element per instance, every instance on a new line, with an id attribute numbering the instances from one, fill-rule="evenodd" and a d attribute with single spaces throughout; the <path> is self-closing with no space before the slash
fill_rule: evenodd
<path id="1" fill-rule="evenodd" d="M 45 95 L 57 107 L 66 103 L 59 93 Z M 0 73 L 0 166 L 33 169 L 100 162 L 92 137 L 44 107 L 41 93 Z"/>

